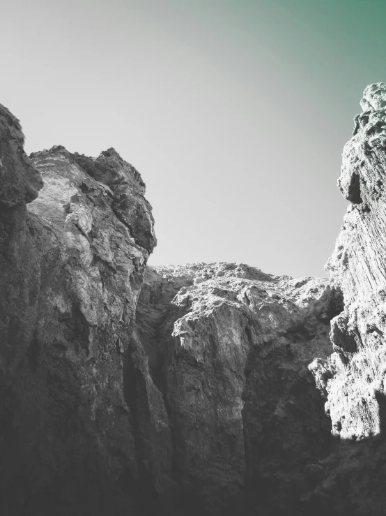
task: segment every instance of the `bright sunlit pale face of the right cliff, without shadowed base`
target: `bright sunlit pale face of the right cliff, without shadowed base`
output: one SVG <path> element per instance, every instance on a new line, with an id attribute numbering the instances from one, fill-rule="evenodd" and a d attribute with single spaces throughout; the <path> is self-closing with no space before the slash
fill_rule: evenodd
<path id="1" fill-rule="evenodd" d="M 351 203 L 327 263 L 345 303 L 332 321 L 328 410 L 334 434 L 345 439 L 380 433 L 386 374 L 386 85 L 367 87 L 361 105 L 339 178 Z"/>

